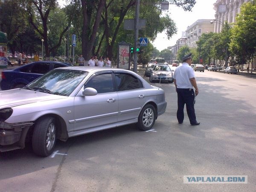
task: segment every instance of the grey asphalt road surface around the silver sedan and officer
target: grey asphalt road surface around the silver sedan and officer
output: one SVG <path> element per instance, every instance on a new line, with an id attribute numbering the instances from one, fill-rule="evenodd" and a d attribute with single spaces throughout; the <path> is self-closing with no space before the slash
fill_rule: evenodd
<path id="1" fill-rule="evenodd" d="M 176 119 L 174 84 L 152 131 L 123 126 L 58 142 L 55 155 L 31 148 L 0 153 L 0 191 L 255 191 L 256 79 L 195 72 L 201 125 Z M 148 78 L 145 77 L 148 80 Z M 247 175 L 247 184 L 184 184 L 184 175 Z"/>

